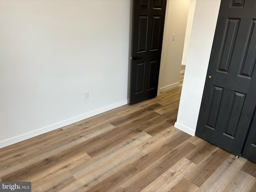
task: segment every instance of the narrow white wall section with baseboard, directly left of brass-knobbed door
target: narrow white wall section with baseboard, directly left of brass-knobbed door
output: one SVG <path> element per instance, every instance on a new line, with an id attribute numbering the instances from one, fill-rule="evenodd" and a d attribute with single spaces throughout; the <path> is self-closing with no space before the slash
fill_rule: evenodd
<path id="1" fill-rule="evenodd" d="M 197 0 L 175 127 L 194 136 L 220 8 L 220 0 Z"/>

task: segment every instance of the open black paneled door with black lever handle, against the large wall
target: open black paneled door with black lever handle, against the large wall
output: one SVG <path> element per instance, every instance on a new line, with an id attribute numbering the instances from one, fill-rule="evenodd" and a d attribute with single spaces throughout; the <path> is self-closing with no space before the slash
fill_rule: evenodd
<path id="1" fill-rule="evenodd" d="M 166 0 L 134 0 L 130 104 L 156 97 Z"/>

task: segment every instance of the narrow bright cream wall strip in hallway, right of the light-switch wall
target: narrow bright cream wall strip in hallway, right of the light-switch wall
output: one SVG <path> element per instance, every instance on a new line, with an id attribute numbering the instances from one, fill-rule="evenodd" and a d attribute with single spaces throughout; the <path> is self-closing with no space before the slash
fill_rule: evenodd
<path id="1" fill-rule="evenodd" d="M 188 21 L 187 21 L 187 27 L 186 27 L 186 35 L 185 35 L 184 48 L 183 48 L 183 54 L 182 54 L 182 64 L 183 65 L 186 65 L 186 63 L 187 63 L 188 46 L 189 46 L 189 42 L 190 42 L 195 8 L 196 8 L 196 0 L 190 0 L 189 10 L 188 10 Z"/>

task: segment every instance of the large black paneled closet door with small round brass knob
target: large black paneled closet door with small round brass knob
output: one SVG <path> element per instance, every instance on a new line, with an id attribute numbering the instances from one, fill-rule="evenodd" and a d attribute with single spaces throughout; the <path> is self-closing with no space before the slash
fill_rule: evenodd
<path id="1" fill-rule="evenodd" d="M 196 135 L 238 156 L 256 104 L 255 62 L 256 0 L 222 0 Z"/>

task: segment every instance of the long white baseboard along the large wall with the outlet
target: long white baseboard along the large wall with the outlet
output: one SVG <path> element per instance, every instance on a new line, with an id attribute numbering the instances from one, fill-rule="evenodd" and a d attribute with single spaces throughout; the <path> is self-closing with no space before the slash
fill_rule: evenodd
<path id="1" fill-rule="evenodd" d="M 120 102 L 117 102 L 117 103 L 114 103 L 114 104 L 96 109 L 94 111 L 88 112 L 86 114 L 82 114 L 80 116 L 76 116 L 74 118 L 70 118 L 70 119 L 64 120 L 62 122 L 58 122 L 56 124 L 52 124 L 52 125 L 40 128 L 38 130 L 34 130 L 32 132 L 28 132 L 28 133 L 25 133 L 25 134 L 22 134 L 22 135 L 19 135 L 19 136 L 16 136 L 16 137 L 13 137 L 13 138 L 10 138 L 10 139 L 7 139 L 7 140 L 0 141 L 0 148 L 18 143 L 20 141 L 24 141 L 26 139 L 38 136 L 40 134 L 44 134 L 46 132 L 49 132 L 49 131 L 52 131 L 52 130 L 55 130 L 55 129 L 58 129 L 58 128 L 61 128 L 61 127 L 64 127 L 64 126 L 67 126 L 69 124 L 84 120 L 86 118 L 89 118 L 89 117 L 92 117 L 94 115 L 106 112 L 108 110 L 112 110 L 114 108 L 126 105 L 128 103 L 129 103 L 129 100 L 123 100 L 123 101 L 120 101 Z"/>

